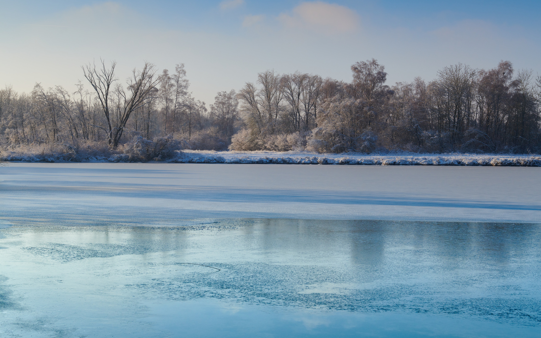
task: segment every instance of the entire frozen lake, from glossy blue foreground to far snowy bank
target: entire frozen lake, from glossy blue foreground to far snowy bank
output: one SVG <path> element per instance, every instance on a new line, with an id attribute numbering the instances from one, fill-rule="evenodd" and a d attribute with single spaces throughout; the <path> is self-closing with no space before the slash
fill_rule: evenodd
<path id="1" fill-rule="evenodd" d="M 538 337 L 540 188 L 523 167 L 10 163 L 0 337 Z"/>

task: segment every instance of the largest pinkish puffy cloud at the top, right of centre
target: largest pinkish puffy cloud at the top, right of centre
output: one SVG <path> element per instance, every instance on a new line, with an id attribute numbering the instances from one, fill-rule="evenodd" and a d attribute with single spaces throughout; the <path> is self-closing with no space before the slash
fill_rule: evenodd
<path id="1" fill-rule="evenodd" d="M 359 16 L 346 6 L 322 1 L 303 2 L 292 14 L 282 13 L 279 21 L 289 28 L 316 30 L 325 34 L 353 32 L 359 26 Z"/>

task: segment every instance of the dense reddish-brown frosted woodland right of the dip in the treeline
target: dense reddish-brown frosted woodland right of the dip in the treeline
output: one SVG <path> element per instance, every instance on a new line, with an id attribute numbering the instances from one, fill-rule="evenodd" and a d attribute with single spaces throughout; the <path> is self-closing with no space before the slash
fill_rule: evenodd
<path id="1" fill-rule="evenodd" d="M 408 150 L 526 153 L 540 150 L 539 88 L 510 62 L 491 70 L 457 64 L 426 83 L 385 85 L 374 59 L 352 65 L 346 83 L 317 75 L 259 74 L 238 95 L 246 127 L 236 150 Z"/>

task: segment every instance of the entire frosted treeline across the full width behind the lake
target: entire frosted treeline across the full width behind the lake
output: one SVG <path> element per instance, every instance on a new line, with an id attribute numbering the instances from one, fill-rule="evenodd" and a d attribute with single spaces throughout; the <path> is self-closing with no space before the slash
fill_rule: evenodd
<path id="1" fill-rule="evenodd" d="M 352 65 L 352 82 L 265 71 L 238 93 L 217 93 L 209 109 L 189 92 L 183 64 L 158 74 L 146 63 L 125 84 L 115 66 L 85 65 L 72 93 L 41 84 L 30 94 L 0 90 L 0 147 L 541 151 L 541 78 L 508 61 L 490 70 L 452 65 L 431 82 L 391 87 L 375 59 Z"/>

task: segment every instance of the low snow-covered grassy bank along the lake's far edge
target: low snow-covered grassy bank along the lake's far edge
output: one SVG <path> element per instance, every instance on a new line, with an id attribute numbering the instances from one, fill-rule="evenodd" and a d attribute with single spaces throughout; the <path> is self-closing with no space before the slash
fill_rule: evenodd
<path id="1" fill-rule="evenodd" d="M 89 156 L 67 160 L 62 156 L 4 154 L 8 162 L 129 162 L 128 156 Z M 232 164 L 364 164 L 364 165 L 489 165 L 541 167 L 539 155 L 509 154 L 318 154 L 307 151 L 214 151 L 183 150 L 172 163 Z"/>

